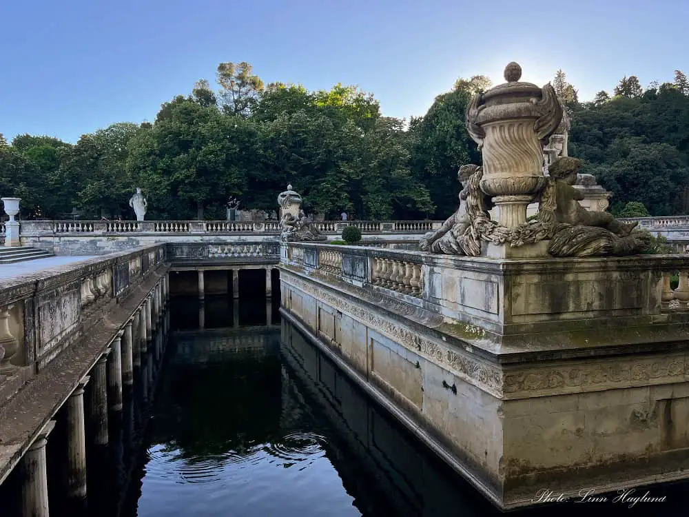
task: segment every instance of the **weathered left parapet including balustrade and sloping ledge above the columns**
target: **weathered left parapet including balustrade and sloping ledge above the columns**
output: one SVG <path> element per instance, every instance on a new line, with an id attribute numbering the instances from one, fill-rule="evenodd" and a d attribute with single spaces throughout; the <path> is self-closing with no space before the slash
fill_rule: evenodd
<path id="1" fill-rule="evenodd" d="M 156 245 L 0 280 L 0 483 L 167 268 Z"/>

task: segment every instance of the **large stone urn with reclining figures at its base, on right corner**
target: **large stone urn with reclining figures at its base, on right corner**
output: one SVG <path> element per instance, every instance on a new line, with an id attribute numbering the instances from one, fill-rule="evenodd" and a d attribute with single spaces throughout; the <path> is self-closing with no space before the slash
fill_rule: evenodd
<path id="1" fill-rule="evenodd" d="M 636 223 L 623 223 L 579 204 L 584 194 L 573 185 L 577 179 L 590 182 L 593 176 L 579 176 L 581 161 L 566 156 L 568 120 L 563 122 L 562 104 L 552 85 L 538 88 L 522 83 L 521 73 L 517 63 L 510 63 L 505 69 L 508 82 L 475 95 L 467 106 L 466 127 L 479 144 L 484 166 L 460 169 L 460 207 L 439 230 L 423 237 L 421 249 L 491 256 L 482 246 L 489 243 L 497 247 L 500 258 L 522 246 L 529 246 L 523 256 L 534 258 L 646 250 L 650 237 L 635 230 Z M 564 138 L 553 139 L 557 131 Z M 526 221 L 526 205 L 531 201 L 538 203 L 539 210 L 535 220 Z M 499 221 L 491 220 L 491 203 L 500 206 Z"/>

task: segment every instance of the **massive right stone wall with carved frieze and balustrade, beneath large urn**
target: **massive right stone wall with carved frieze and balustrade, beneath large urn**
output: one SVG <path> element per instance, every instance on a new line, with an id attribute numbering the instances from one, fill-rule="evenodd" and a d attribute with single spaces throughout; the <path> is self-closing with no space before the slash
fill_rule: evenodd
<path id="1" fill-rule="evenodd" d="M 684 256 L 285 248 L 285 314 L 500 507 L 688 476 Z"/>

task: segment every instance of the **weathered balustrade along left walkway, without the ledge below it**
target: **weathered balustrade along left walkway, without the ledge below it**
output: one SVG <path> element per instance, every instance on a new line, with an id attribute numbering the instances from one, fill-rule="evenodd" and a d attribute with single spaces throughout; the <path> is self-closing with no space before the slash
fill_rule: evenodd
<path id="1" fill-rule="evenodd" d="M 0 280 L 0 405 L 161 267 L 153 245 Z"/>

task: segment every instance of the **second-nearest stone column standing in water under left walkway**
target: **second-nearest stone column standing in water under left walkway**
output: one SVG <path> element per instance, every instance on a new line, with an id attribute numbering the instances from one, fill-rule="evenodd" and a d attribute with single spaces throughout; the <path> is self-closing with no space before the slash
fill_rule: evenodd
<path id="1" fill-rule="evenodd" d="M 84 429 L 84 377 L 67 399 L 67 496 L 86 496 L 86 436 Z"/>

